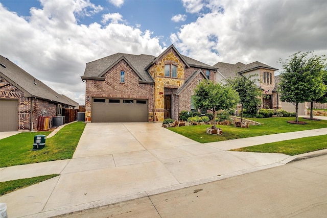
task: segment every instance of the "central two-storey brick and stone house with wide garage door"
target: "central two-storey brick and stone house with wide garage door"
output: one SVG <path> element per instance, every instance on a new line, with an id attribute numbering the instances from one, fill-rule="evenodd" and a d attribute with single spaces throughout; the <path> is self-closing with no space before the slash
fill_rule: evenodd
<path id="1" fill-rule="evenodd" d="M 179 54 L 174 45 L 158 57 L 117 53 L 86 64 L 87 120 L 162 122 L 192 109 L 201 80 L 215 80 L 216 67 Z"/>

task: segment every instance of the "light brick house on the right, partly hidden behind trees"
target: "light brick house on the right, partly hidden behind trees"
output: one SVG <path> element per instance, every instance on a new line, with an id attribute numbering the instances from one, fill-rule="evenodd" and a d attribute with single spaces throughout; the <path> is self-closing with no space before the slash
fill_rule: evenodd
<path id="1" fill-rule="evenodd" d="M 225 80 L 229 78 L 253 75 L 252 79 L 256 79 L 256 85 L 262 89 L 261 108 L 282 109 L 277 90 L 275 89 L 275 71 L 278 69 L 259 61 L 250 64 L 218 62 L 214 67 L 218 68 L 216 81 L 221 83 L 225 83 Z"/>

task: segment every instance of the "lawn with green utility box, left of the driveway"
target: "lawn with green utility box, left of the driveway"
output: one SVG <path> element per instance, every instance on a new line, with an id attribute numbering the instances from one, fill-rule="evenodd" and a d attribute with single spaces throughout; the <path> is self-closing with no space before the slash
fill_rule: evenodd
<path id="1" fill-rule="evenodd" d="M 70 159 L 73 157 L 85 123 L 76 122 L 63 127 L 51 138 L 45 139 L 45 147 L 33 149 L 34 136 L 50 132 L 23 132 L 0 140 L 0 167 Z"/>

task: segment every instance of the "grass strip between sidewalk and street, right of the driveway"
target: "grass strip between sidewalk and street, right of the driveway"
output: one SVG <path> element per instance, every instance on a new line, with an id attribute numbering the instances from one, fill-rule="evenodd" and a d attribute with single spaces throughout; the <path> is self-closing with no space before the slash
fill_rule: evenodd
<path id="1" fill-rule="evenodd" d="M 233 149 L 231 151 L 282 153 L 286 155 L 298 155 L 322 149 L 327 149 L 327 135 L 265 143 L 260 144 L 258 146 Z"/>

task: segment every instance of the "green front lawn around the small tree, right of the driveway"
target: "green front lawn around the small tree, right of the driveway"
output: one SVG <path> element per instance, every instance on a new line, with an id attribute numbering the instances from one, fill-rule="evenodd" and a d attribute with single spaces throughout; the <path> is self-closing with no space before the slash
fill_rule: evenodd
<path id="1" fill-rule="evenodd" d="M 203 126 L 188 126 L 188 127 L 173 127 L 169 130 L 181 134 L 185 137 L 198 141 L 200 143 L 224 141 L 229 139 L 247 138 L 260 135 L 270 135 L 284 132 L 295 132 L 301 130 L 319 129 L 327 127 L 327 120 L 308 120 L 299 117 L 300 121 L 307 122 L 306 125 L 295 125 L 287 123 L 287 120 L 295 120 L 295 117 L 272 117 L 272 118 L 251 118 L 256 122 L 260 122 L 260 126 L 249 126 L 249 128 L 239 128 L 234 126 L 220 126 L 223 134 L 221 135 L 208 135 L 206 128 L 211 125 Z"/>

